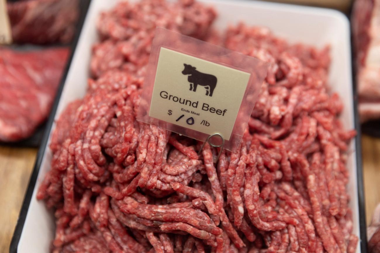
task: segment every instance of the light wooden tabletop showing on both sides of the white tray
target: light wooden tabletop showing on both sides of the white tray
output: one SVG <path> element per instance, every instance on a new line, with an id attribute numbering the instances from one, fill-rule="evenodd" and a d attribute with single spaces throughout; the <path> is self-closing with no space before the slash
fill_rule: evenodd
<path id="1" fill-rule="evenodd" d="M 366 217 L 380 202 L 380 139 L 363 135 Z M 0 252 L 8 252 L 37 149 L 0 146 Z"/>

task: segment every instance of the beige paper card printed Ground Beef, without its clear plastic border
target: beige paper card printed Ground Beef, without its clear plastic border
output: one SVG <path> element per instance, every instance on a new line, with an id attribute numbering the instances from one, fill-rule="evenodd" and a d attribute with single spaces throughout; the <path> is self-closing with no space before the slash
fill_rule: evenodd
<path id="1" fill-rule="evenodd" d="M 230 140 L 250 73 L 161 47 L 149 116 Z"/>

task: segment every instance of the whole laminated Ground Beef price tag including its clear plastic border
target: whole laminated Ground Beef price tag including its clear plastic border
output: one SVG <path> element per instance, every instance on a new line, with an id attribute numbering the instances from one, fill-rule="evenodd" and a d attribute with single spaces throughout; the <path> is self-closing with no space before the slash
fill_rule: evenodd
<path id="1" fill-rule="evenodd" d="M 137 119 L 201 141 L 218 134 L 235 151 L 266 72 L 256 58 L 157 28 Z"/>

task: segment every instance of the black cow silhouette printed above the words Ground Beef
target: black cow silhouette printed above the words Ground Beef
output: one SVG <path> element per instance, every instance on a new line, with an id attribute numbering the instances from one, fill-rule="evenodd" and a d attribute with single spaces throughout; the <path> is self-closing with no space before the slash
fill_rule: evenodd
<path id="1" fill-rule="evenodd" d="M 182 74 L 189 75 L 187 81 L 190 83 L 190 90 L 195 92 L 198 85 L 205 86 L 206 96 L 212 97 L 212 93 L 218 81 L 215 75 L 199 72 L 195 67 L 185 63 L 184 66 L 185 69 L 182 71 Z"/>

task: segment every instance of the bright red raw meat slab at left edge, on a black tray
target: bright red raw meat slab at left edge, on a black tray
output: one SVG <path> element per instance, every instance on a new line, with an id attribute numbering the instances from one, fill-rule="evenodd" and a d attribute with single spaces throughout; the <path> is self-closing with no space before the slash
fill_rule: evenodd
<path id="1" fill-rule="evenodd" d="M 69 49 L 0 48 L 0 141 L 29 137 L 50 112 Z"/>

